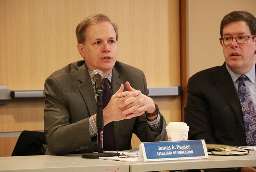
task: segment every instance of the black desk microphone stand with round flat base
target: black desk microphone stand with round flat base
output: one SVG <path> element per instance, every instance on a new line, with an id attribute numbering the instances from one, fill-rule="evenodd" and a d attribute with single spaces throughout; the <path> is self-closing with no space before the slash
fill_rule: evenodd
<path id="1" fill-rule="evenodd" d="M 103 119 L 103 103 L 102 103 L 102 95 L 98 94 L 97 97 L 97 129 L 98 129 L 98 153 L 84 153 L 82 154 L 82 158 L 99 158 L 99 157 L 114 157 L 118 156 L 119 153 L 110 153 L 103 151 L 103 130 L 104 130 L 104 119 Z"/>

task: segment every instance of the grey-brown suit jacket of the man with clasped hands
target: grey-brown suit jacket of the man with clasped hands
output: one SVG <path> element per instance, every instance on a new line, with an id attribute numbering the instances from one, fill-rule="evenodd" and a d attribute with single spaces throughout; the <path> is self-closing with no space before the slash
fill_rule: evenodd
<path id="1" fill-rule="evenodd" d="M 121 84 L 131 86 L 148 95 L 146 78 L 135 67 L 116 62 L 112 70 L 112 94 Z M 127 90 L 125 88 L 125 90 Z M 95 93 L 85 62 L 78 61 L 54 72 L 45 80 L 44 130 L 49 151 L 55 155 L 85 153 L 97 148 L 90 138 L 89 117 L 96 114 Z M 141 142 L 165 141 L 166 121 L 161 115 L 162 132 L 152 132 L 146 115 L 114 122 L 114 138 L 117 150 L 131 148 L 132 133 Z"/>

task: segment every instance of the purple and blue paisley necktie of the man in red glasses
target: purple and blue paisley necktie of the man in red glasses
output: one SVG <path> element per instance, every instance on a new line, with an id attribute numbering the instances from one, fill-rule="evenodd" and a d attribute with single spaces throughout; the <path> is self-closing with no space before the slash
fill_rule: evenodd
<path id="1" fill-rule="evenodd" d="M 243 113 L 246 143 L 247 146 L 256 146 L 256 110 L 244 83 L 246 76 L 241 75 L 238 79 L 238 96 Z"/>

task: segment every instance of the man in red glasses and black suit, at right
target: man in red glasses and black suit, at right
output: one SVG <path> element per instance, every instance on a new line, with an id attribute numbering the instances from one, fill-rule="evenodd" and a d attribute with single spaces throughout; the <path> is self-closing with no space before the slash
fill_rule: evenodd
<path id="1" fill-rule="evenodd" d="M 189 139 L 204 139 L 206 144 L 247 146 L 238 78 L 247 76 L 245 85 L 255 106 L 256 18 L 246 11 L 231 12 L 223 18 L 220 34 L 225 63 L 189 79 L 184 121 L 190 126 Z M 256 130 L 252 135 L 256 135 Z M 251 142 L 256 146 L 256 140 Z M 221 170 L 232 169 L 218 169 Z"/>

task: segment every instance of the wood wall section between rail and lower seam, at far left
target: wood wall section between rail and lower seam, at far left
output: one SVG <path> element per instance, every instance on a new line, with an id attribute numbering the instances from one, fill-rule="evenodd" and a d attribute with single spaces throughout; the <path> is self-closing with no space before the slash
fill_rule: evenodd
<path id="1" fill-rule="evenodd" d="M 9 100 L 0 106 L 0 132 L 44 130 L 44 99 Z"/>

